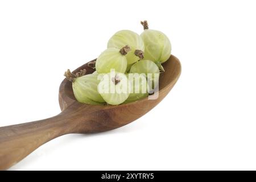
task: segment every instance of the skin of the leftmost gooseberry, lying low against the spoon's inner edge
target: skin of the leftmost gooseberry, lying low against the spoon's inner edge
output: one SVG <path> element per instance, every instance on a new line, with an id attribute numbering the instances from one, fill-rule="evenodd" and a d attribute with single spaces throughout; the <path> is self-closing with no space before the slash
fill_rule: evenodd
<path id="1" fill-rule="evenodd" d="M 85 104 L 104 104 L 105 101 L 97 90 L 99 83 L 97 75 L 90 74 L 75 78 L 72 87 L 76 100 Z"/>

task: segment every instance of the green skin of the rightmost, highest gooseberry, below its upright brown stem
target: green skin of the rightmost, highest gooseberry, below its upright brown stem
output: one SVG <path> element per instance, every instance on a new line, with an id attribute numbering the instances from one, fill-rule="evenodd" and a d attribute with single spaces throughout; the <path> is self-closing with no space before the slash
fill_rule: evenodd
<path id="1" fill-rule="evenodd" d="M 144 59 L 155 63 L 164 63 L 171 56 L 171 42 L 168 37 L 158 30 L 144 30 L 141 34 L 144 42 Z"/>

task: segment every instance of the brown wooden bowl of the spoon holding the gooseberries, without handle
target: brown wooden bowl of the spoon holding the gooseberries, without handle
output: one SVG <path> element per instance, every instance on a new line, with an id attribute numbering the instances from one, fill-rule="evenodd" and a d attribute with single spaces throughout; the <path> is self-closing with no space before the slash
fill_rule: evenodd
<path id="1" fill-rule="evenodd" d="M 93 61 L 96 61 L 96 59 Z M 61 110 L 65 110 L 72 105 L 75 106 L 75 110 L 79 108 L 81 115 L 86 113 L 86 118 L 82 117 L 79 121 L 76 133 L 97 133 L 127 125 L 146 114 L 160 101 L 162 101 L 176 83 L 181 73 L 179 60 L 175 56 L 171 56 L 170 59 L 163 64 L 163 67 L 166 72 L 160 74 L 159 97 L 156 98 L 156 100 L 143 98 L 139 101 L 130 102 L 129 104 L 121 104 L 118 106 L 80 104 L 76 101 L 73 94 L 72 83 L 65 79 L 60 85 L 60 108 Z M 88 67 L 88 64 L 84 64 L 73 71 L 73 73 L 77 73 L 81 69 L 86 69 L 87 74 L 95 71 L 91 67 Z"/>

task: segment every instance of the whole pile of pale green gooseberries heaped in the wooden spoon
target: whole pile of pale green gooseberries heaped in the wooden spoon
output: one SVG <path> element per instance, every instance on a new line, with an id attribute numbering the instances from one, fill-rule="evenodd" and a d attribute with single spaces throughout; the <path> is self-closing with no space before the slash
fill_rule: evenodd
<path id="1" fill-rule="evenodd" d="M 154 93 L 159 74 L 164 72 L 162 63 L 171 56 L 171 43 L 165 34 L 148 29 L 147 21 L 141 22 L 141 35 L 130 31 L 116 32 L 108 47 L 98 56 L 96 69 L 86 74 L 86 69 L 74 74 L 65 72 L 72 82 L 76 100 L 92 105 L 119 105 L 141 100 Z"/>

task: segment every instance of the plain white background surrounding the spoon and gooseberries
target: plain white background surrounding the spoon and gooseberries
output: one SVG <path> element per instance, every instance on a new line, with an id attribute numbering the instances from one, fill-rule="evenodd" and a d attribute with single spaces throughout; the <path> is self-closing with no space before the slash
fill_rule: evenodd
<path id="1" fill-rule="evenodd" d="M 10 169 L 256 169 L 255 17 L 255 1 L 0 1 L 0 126 L 58 114 L 64 71 L 140 20 L 183 67 L 137 121 L 57 138 Z"/>

